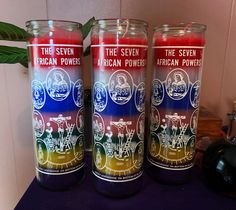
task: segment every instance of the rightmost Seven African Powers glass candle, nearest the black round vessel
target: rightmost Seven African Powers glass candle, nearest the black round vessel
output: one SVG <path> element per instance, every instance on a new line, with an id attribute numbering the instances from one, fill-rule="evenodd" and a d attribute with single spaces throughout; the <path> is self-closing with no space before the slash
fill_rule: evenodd
<path id="1" fill-rule="evenodd" d="M 193 166 L 205 25 L 163 25 L 153 35 L 148 171 L 159 181 L 188 181 Z"/>

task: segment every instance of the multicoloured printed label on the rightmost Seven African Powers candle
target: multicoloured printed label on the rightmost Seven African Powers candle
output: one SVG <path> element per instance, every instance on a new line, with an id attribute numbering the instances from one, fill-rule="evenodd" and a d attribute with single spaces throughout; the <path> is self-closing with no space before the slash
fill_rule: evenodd
<path id="1" fill-rule="evenodd" d="M 148 160 L 160 168 L 193 166 L 203 47 L 154 47 Z"/>

